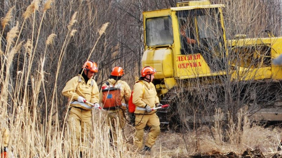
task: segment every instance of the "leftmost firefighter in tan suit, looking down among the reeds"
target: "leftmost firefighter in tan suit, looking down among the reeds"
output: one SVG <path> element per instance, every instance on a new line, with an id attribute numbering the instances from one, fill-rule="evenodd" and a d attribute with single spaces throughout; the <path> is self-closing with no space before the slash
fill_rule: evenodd
<path id="1" fill-rule="evenodd" d="M 71 149 L 72 151 L 80 150 L 80 157 L 84 149 L 82 146 L 87 144 L 83 138 L 88 138 L 91 127 L 91 109 L 92 106 L 85 101 L 93 103 L 95 109 L 100 106 L 99 90 L 93 79 L 98 72 L 97 64 L 91 60 L 84 63 L 79 75 L 69 80 L 62 94 L 71 99 L 68 125 L 71 132 Z M 82 73 L 82 75 L 80 75 Z M 81 142 L 81 144 L 80 144 Z"/>

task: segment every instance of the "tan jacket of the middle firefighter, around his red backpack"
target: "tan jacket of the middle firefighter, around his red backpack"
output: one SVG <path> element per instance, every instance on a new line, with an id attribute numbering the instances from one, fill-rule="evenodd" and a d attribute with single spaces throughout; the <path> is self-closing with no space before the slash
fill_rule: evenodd
<path id="1" fill-rule="evenodd" d="M 114 88 L 120 88 L 121 89 L 121 103 L 123 104 L 128 104 L 128 100 L 130 98 L 131 95 L 131 89 L 129 87 L 129 85 L 122 80 L 118 80 L 116 81 L 113 78 L 108 79 L 109 85 L 112 85 Z M 106 83 L 104 83 L 102 85 L 103 86 L 107 86 Z M 100 104 L 102 105 L 102 99 L 103 99 L 103 94 L 102 94 L 102 90 L 100 91 Z M 126 107 L 121 106 L 122 109 L 126 109 Z M 109 111 L 116 111 L 116 110 L 109 110 Z"/>

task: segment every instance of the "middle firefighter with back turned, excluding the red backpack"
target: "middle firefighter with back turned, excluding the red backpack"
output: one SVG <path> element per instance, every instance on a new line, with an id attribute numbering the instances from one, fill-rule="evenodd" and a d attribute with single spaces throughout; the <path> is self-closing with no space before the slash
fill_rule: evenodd
<path id="1" fill-rule="evenodd" d="M 107 124 L 109 127 L 110 135 L 110 145 L 117 145 L 117 132 L 120 132 L 124 129 L 124 124 L 126 123 L 125 110 L 127 109 L 128 100 L 131 95 L 131 89 L 129 85 L 121 80 L 121 77 L 124 75 L 124 70 L 120 66 L 113 68 L 109 79 L 102 85 L 103 89 L 108 89 L 110 87 L 120 88 L 120 100 L 121 105 L 117 107 L 103 108 L 107 111 Z M 101 105 L 105 106 L 102 99 L 103 94 L 102 90 L 100 91 L 100 102 Z M 116 129 L 118 127 L 118 129 Z"/>

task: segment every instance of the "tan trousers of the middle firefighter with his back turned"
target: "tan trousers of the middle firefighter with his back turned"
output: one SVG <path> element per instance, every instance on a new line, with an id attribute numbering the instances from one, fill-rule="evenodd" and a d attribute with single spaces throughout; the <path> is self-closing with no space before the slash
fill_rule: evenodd
<path id="1" fill-rule="evenodd" d="M 108 111 L 109 113 L 107 114 L 107 125 L 109 127 L 109 130 L 111 130 L 111 137 L 110 139 L 111 142 L 113 143 L 113 145 L 117 145 L 117 141 L 121 141 L 123 140 L 122 138 L 118 139 L 118 133 L 122 132 L 124 129 L 124 124 L 126 123 L 126 119 L 125 119 L 125 112 L 123 109 L 118 109 L 118 110 L 114 110 Z M 123 135 L 123 134 L 122 134 Z"/>

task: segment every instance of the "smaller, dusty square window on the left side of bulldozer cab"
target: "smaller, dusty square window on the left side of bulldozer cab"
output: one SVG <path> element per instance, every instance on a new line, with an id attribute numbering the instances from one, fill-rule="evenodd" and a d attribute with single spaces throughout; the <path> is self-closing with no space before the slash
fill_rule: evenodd
<path id="1" fill-rule="evenodd" d="M 146 44 L 148 46 L 173 44 L 170 16 L 146 19 Z"/>

